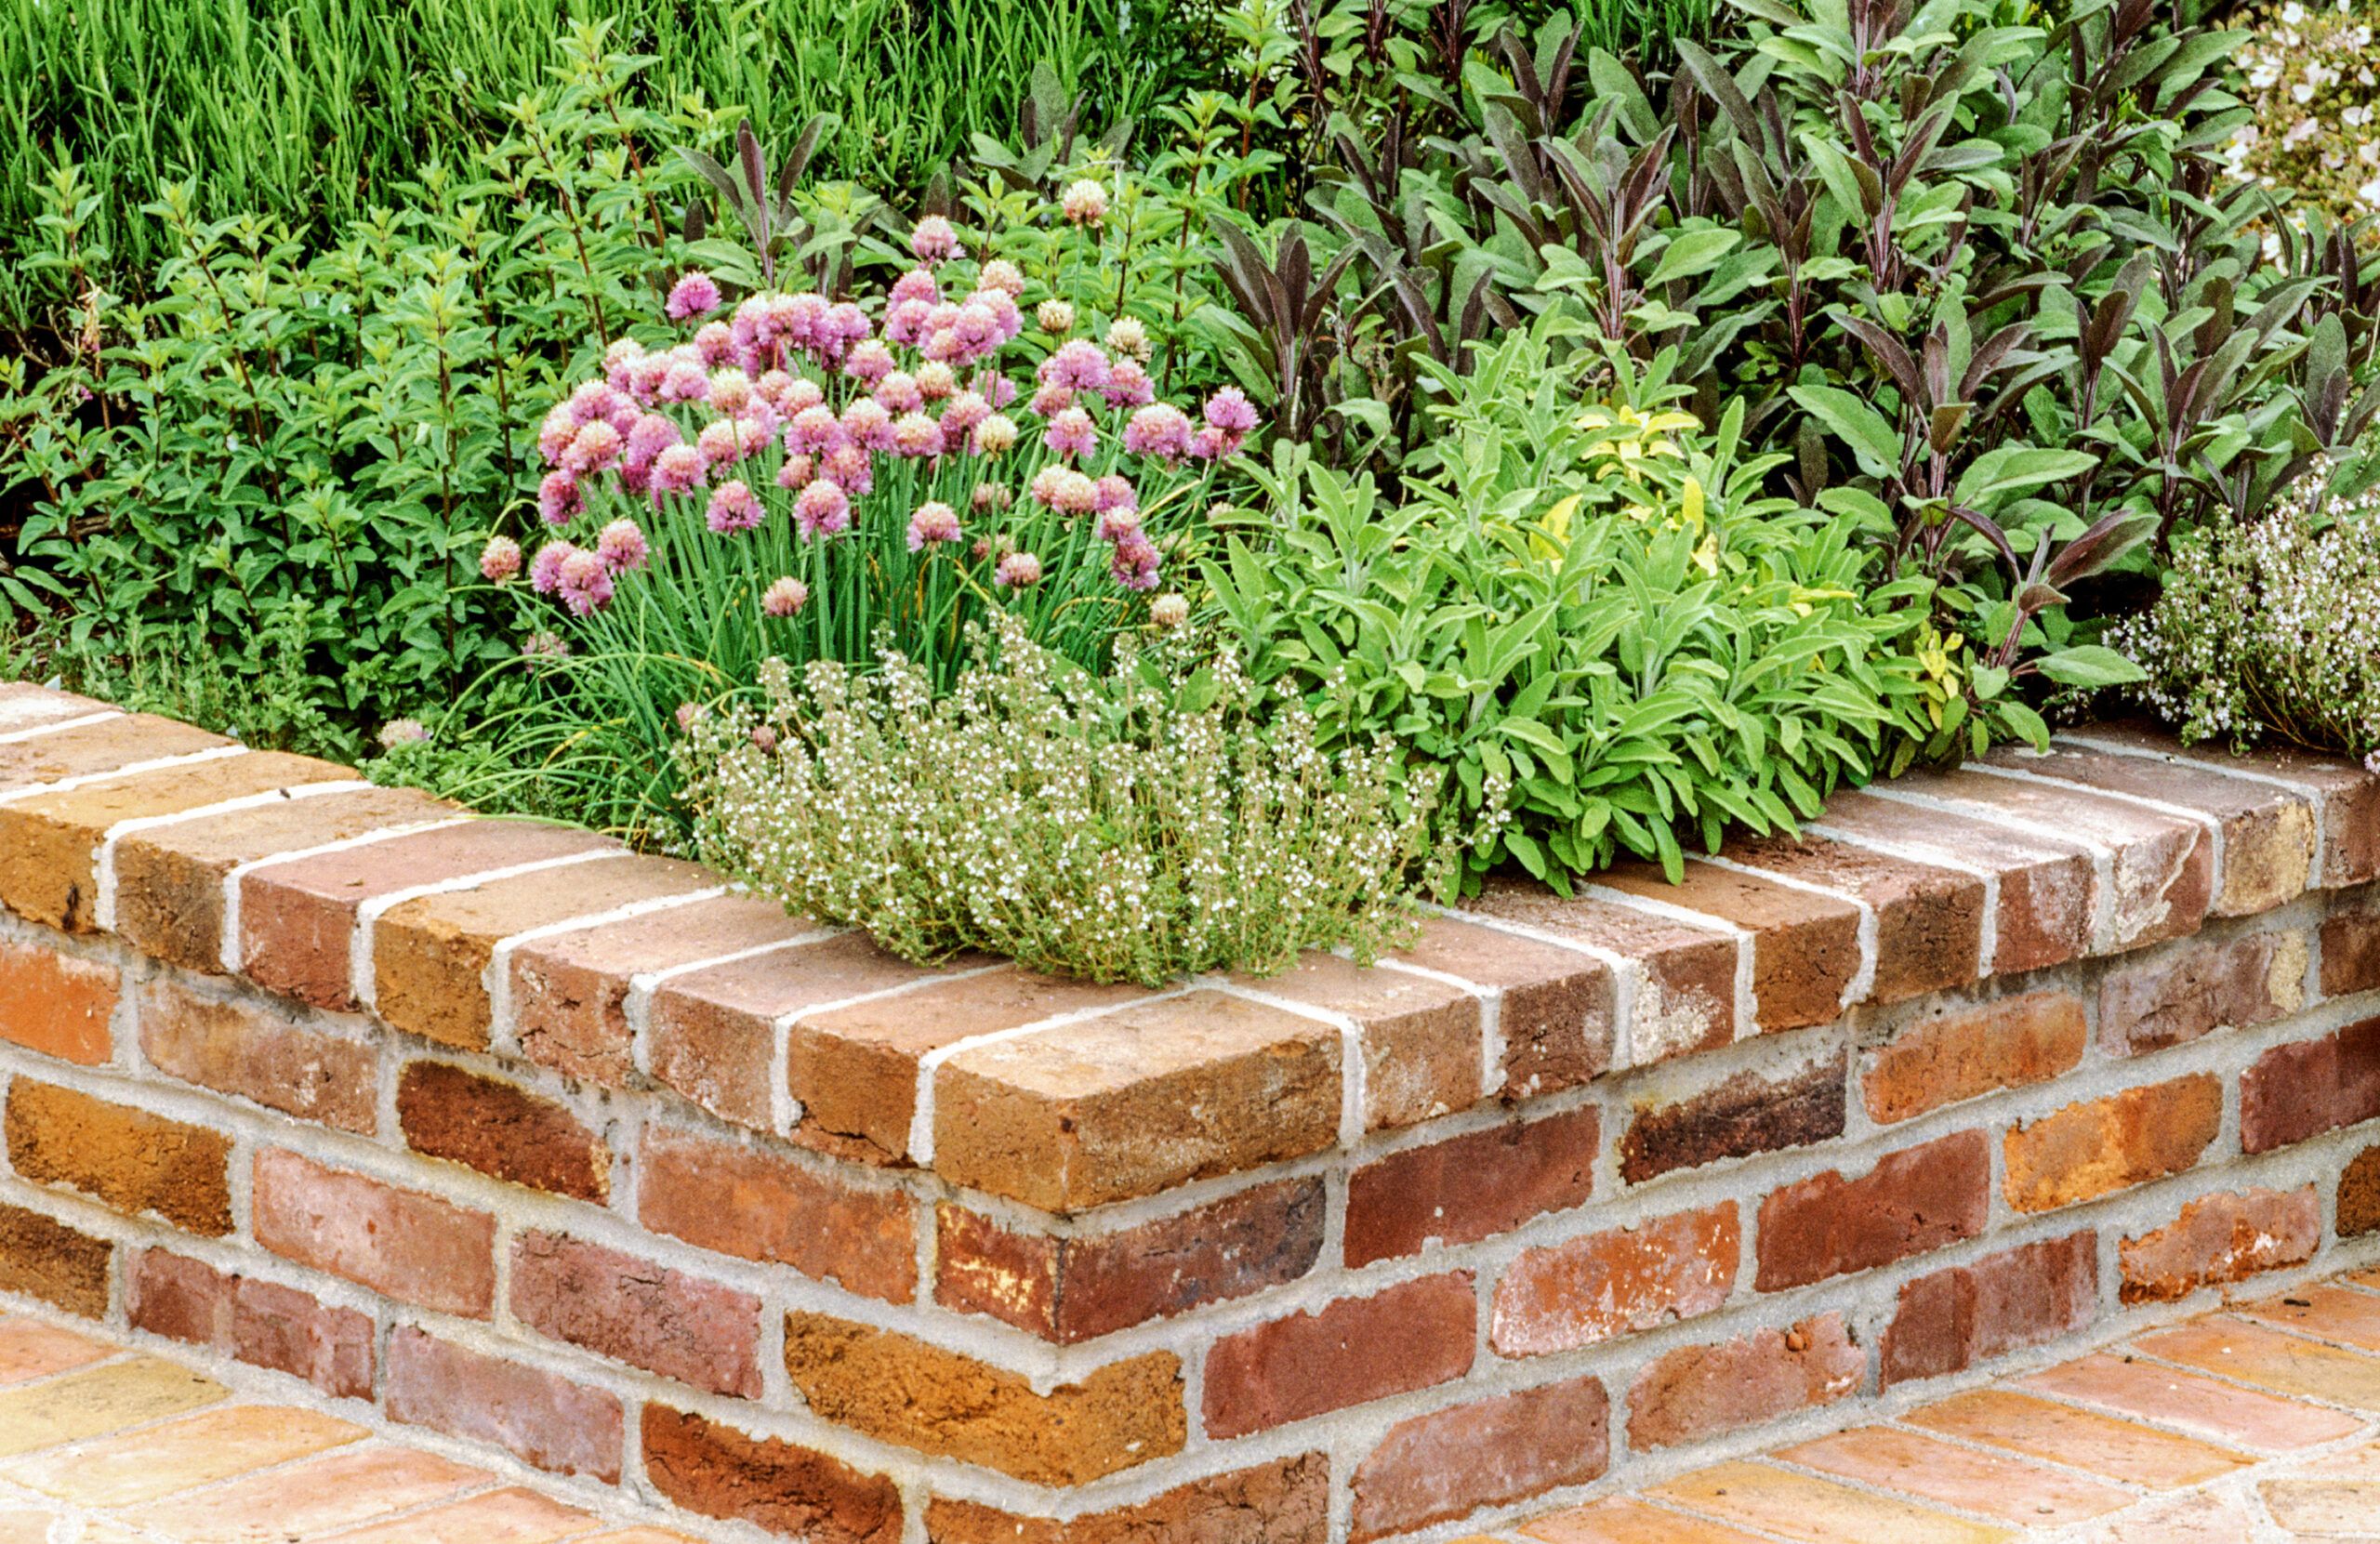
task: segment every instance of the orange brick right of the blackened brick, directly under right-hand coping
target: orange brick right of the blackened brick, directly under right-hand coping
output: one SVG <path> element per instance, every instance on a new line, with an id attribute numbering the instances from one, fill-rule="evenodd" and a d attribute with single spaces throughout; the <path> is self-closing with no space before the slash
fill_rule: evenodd
<path id="1" fill-rule="evenodd" d="M 2082 1061 L 2090 1028 L 2073 992 L 2025 992 L 1973 1006 L 1937 1004 L 1868 1052 L 1861 1094 L 1880 1125 L 2047 1082 Z"/>

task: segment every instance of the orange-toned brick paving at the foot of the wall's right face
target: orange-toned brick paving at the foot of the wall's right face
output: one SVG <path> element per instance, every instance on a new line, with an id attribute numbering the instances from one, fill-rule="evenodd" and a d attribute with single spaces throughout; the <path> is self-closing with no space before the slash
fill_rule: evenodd
<path id="1" fill-rule="evenodd" d="M 2380 1270 L 1461 1544 L 2380 1544 Z"/>

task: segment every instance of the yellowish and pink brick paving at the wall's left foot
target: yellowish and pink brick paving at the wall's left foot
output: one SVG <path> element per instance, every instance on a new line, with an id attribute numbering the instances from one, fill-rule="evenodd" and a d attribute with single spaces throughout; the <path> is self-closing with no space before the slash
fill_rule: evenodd
<path id="1" fill-rule="evenodd" d="M 0 1544 L 697 1544 L 0 1316 Z"/>

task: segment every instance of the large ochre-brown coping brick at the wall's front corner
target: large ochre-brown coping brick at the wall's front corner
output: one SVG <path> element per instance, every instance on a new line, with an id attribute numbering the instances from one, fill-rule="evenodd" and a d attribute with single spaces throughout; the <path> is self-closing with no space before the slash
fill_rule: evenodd
<path id="1" fill-rule="evenodd" d="M 1076 1211 L 1321 1151 L 1338 1123 L 1338 1030 L 1190 992 L 945 1061 L 933 1166 Z"/>

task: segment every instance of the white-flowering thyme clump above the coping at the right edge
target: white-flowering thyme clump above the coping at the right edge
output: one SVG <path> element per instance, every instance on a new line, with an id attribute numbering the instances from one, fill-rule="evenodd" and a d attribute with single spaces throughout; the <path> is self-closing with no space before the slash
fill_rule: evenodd
<path id="1" fill-rule="evenodd" d="M 2185 742 L 2275 735 L 2380 773 L 2380 488 L 2330 500 L 2328 471 L 2251 526 L 2175 538 L 2163 595 L 2109 642 Z"/>

